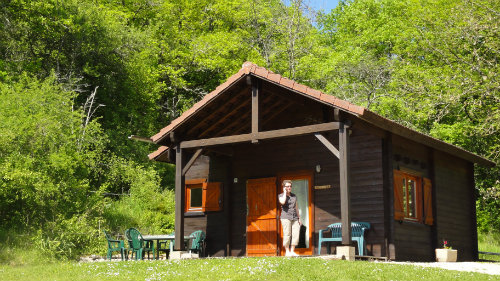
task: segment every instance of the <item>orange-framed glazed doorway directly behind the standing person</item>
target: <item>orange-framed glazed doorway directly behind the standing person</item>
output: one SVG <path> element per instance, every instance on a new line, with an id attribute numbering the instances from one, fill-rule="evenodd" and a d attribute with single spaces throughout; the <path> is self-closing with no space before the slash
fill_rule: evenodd
<path id="1" fill-rule="evenodd" d="M 303 171 L 297 173 L 291 173 L 286 175 L 280 175 L 278 192 L 283 192 L 281 187 L 281 182 L 284 180 L 292 181 L 292 193 L 297 196 L 297 204 L 299 207 L 299 215 L 302 221 L 302 226 L 300 227 L 300 238 L 299 244 L 295 247 L 295 252 L 299 255 L 312 255 L 314 241 L 314 206 L 312 203 L 312 179 L 313 172 Z M 277 195 L 276 195 L 277 196 Z M 285 255 L 285 248 L 282 246 L 283 241 L 283 229 L 281 227 L 281 222 L 279 223 L 279 248 L 280 255 Z"/>

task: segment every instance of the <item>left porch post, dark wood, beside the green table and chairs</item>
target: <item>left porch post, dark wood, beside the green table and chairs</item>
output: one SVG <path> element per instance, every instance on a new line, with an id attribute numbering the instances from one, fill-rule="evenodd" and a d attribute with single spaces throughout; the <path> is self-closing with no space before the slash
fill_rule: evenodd
<path id="1" fill-rule="evenodd" d="M 180 144 L 175 147 L 175 251 L 184 251 L 184 174 L 183 153 Z"/>

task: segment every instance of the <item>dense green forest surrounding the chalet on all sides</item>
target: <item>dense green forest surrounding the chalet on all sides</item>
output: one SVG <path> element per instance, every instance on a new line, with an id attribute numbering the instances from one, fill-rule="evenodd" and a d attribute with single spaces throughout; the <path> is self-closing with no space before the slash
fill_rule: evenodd
<path id="1" fill-rule="evenodd" d="M 500 229 L 500 2 L 0 0 L 0 262 L 169 233 L 174 168 L 151 136 L 251 61 L 484 156 Z"/>

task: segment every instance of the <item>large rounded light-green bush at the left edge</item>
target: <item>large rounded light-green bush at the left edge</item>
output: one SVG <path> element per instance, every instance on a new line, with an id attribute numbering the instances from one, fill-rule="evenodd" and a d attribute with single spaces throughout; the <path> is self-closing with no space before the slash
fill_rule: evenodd
<path id="1" fill-rule="evenodd" d="M 1 83 L 0 98 L 3 224 L 39 226 L 62 210 L 78 212 L 88 190 L 86 151 L 98 149 L 99 125 L 90 122 L 83 133 L 74 95 L 53 78 Z"/>

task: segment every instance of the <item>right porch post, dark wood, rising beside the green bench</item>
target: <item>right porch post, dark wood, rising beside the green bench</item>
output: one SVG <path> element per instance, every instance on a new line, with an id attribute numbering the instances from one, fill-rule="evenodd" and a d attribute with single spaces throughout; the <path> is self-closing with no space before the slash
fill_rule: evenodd
<path id="1" fill-rule="evenodd" d="M 349 157 L 349 130 L 343 122 L 339 128 L 340 215 L 342 245 L 351 244 L 351 178 Z"/>

